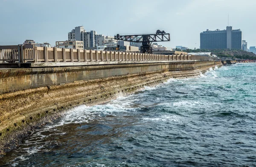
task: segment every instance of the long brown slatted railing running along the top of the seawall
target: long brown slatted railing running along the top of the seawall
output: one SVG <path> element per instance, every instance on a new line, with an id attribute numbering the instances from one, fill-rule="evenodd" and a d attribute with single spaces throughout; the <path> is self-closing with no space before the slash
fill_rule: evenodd
<path id="1" fill-rule="evenodd" d="M 0 63 L 212 60 L 207 56 L 159 55 L 136 52 L 47 48 L 33 45 L 0 46 Z"/>

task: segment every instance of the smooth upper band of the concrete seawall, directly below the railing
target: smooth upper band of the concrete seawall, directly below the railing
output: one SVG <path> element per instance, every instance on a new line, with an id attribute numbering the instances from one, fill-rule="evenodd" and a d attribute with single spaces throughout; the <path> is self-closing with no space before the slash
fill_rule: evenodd
<path id="1" fill-rule="evenodd" d="M 120 65 L 0 69 L 0 93 L 126 74 L 162 70 L 189 70 L 199 66 L 207 66 L 212 63 L 215 62 L 135 63 Z"/>

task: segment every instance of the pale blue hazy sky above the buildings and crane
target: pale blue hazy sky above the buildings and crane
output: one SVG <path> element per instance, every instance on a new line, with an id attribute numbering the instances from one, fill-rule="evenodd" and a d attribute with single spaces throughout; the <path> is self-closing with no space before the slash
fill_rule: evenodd
<path id="1" fill-rule="evenodd" d="M 256 46 L 256 0 L 0 0 L 0 45 L 67 40 L 76 26 L 98 34 L 170 33 L 169 48 L 200 47 L 200 32 L 241 29 Z"/>

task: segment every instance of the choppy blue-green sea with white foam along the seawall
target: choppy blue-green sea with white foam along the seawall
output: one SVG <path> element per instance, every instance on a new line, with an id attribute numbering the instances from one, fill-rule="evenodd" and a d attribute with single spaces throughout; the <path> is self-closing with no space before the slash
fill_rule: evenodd
<path id="1" fill-rule="evenodd" d="M 76 107 L 0 166 L 256 166 L 256 63 Z"/>

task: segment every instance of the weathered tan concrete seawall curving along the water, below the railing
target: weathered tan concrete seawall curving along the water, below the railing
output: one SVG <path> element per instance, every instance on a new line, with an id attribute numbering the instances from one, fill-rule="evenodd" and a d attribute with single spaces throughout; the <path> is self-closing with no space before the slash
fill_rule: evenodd
<path id="1" fill-rule="evenodd" d="M 0 69 L 0 155 L 71 107 L 102 104 L 169 78 L 191 78 L 220 61 Z"/>

